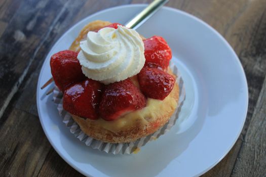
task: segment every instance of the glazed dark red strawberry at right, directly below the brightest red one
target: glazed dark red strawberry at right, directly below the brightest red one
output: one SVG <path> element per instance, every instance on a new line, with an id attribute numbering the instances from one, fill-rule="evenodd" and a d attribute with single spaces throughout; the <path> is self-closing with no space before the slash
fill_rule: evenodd
<path id="1" fill-rule="evenodd" d="M 143 67 L 138 73 L 138 81 L 146 97 L 163 100 L 172 91 L 175 78 L 158 68 Z"/>

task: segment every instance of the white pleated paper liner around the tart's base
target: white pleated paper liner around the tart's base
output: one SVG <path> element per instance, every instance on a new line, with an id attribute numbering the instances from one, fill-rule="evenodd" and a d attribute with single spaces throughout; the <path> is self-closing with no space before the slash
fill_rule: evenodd
<path id="1" fill-rule="evenodd" d="M 104 143 L 99 140 L 95 140 L 89 136 L 87 136 L 80 128 L 80 126 L 75 123 L 75 121 L 72 119 L 71 115 L 66 112 L 63 109 L 63 93 L 58 90 L 57 87 L 55 87 L 53 92 L 53 98 L 54 103 L 57 105 L 57 109 L 59 111 L 60 116 L 63 119 L 63 122 L 66 124 L 66 126 L 70 129 L 70 132 L 77 137 L 80 141 L 84 142 L 87 146 L 92 147 L 93 149 L 98 149 L 100 151 L 104 151 L 106 153 L 112 153 L 112 154 L 131 154 L 133 153 L 136 148 L 140 148 L 141 146 L 144 146 L 147 142 L 156 140 L 161 135 L 164 135 L 167 131 L 170 130 L 170 128 L 175 124 L 179 112 L 181 110 L 181 107 L 183 105 L 183 102 L 185 100 L 185 89 L 183 84 L 183 79 L 179 73 L 179 70 L 177 67 L 170 63 L 170 68 L 173 71 L 175 75 L 177 75 L 176 82 L 179 85 L 179 100 L 178 100 L 178 106 L 172 115 L 172 117 L 169 119 L 169 121 L 160 129 L 158 129 L 153 134 L 143 137 L 141 139 L 138 139 L 135 142 L 130 143 Z"/>

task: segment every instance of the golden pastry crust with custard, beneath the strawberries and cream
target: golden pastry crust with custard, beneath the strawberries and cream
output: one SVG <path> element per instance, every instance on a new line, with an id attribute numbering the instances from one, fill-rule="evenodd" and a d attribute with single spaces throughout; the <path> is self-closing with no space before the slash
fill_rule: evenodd
<path id="1" fill-rule="evenodd" d="M 79 43 L 86 37 L 88 31 L 98 30 L 111 24 L 110 22 L 94 21 L 86 25 L 79 36 L 73 41 L 70 50 L 80 51 Z M 144 37 L 143 37 L 144 38 Z M 174 75 L 170 69 L 168 73 Z M 138 86 L 136 76 L 131 77 Z M 147 105 L 142 110 L 133 111 L 113 121 L 84 119 L 72 115 L 81 129 L 88 136 L 107 143 L 129 143 L 148 136 L 162 127 L 174 113 L 179 99 L 179 87 L 175 83 L 173 90 L 163 101 L 147 99 Z"/>

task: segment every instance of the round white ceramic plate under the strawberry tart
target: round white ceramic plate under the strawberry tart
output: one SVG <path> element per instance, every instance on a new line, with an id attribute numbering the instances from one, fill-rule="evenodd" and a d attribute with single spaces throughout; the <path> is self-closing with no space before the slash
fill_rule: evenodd
<path id="1" fill-rule="evenodd" d="M 177 124 L 147 143 L 138 154 L 112 155 L 93 150 L 75 138 L 61 121 L 52 95 L 52 54 L 68 49 L 84 25 L 93 20 L 126 23 L 145 5 L 107 9 L 70 28 L 53 46 L 37 85 L 37 108 L 43 129 L 57 153 L 88 176 L 198 176 L 217 164 L 235 144 L 248 106 L 246 77 L 233 49 L 213 28 L 182 11 L 163 8 L 137 31 L 163 36 L 181 71 L 186 100 Z"/>

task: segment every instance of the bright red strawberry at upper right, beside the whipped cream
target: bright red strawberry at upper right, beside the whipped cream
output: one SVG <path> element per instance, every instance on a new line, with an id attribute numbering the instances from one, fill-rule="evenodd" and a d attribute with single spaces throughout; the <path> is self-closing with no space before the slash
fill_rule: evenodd
<path id="1" fill-rule="evenodd" d="M 160 36 L 153 36 L 143 40 L 143 42 L 145 63 L 155 63 L 166 70 L 172 58 L 172 51 L 165 39 Z"/>

